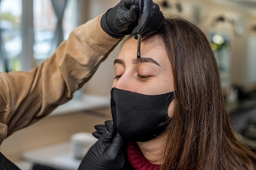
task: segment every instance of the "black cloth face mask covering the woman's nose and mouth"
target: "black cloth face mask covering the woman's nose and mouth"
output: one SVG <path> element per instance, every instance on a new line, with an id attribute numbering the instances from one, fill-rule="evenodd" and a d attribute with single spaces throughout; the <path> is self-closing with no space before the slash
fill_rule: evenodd
<path id="1" fill-rule="evenodd" d="M 159 136 L 167 125 L 173 92 L 144 95 L 112 88 L 111 112 L 118 133 L 125 139 L 146 142 Z"/>

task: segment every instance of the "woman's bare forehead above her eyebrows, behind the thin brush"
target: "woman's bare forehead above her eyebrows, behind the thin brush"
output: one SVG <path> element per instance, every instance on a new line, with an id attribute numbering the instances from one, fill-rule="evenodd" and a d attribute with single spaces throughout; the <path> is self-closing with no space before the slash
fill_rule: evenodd
<path id="1" fill-rule="evenodd" d="M 121 47 L 118 59 L 136 59 L 137 58 L 138 41 L 134 37 L 129 37 Z M 164 50 L 162 41 L 158 35 L 150 35 L 141 39 L 141 58 L 148 57 L 157 59 L 159 62 L 167 62 L 168 57 Z M 157 61 L 157 62 L 158 62 Z M 170 63 L 168 61 L 167 63 Z"/>

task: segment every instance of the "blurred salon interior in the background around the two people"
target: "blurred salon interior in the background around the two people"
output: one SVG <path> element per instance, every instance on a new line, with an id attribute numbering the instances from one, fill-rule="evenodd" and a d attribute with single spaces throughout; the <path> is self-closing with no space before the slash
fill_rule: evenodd
<path id="1" fill-rule="evenodd" d="M 49 58 L 72 29 L 118 2 L 0 0 L 0 45 L 6 52 L 5 57 L 0 56 L 0 72 L 31 70 Z M 256 0 L 154 2 L 164 13 L 192 20 L 209 37 L 231 124 L 256 151 Z M 111 119 L 113 61 L 119 48 L 120 45 L 110 53 L 90 81 L 75 92 L 72 100 L 5 139 L 1 152 L 22 170 L 32 170 L 35 164 L 76 170 L 96 140 L 91 134 L 94 125 Z"/>

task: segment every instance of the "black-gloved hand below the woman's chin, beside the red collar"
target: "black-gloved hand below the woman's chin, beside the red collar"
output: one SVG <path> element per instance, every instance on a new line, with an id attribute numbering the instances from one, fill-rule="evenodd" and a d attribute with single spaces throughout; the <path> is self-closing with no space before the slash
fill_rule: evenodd
<path id="1" fill-rule="evenodd" d="M 110 121 L 106 131 L 83 157 L 78 170 L 125 170 L 128 159 L 123 144 L 123 138 Z"/>

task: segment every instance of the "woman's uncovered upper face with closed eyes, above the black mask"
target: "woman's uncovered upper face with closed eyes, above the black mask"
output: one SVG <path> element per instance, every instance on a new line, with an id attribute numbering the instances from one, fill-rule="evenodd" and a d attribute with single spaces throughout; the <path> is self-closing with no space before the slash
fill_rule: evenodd
<path id="1" fill-rule="evenodd" d="M 171 63 L 157 35 L 141 40 L 140 59 L 137 59 L 137 40 L 130 37 L 114 65 L 116 77 L 112 87 L 146 95 L 174 91 Z"/>

